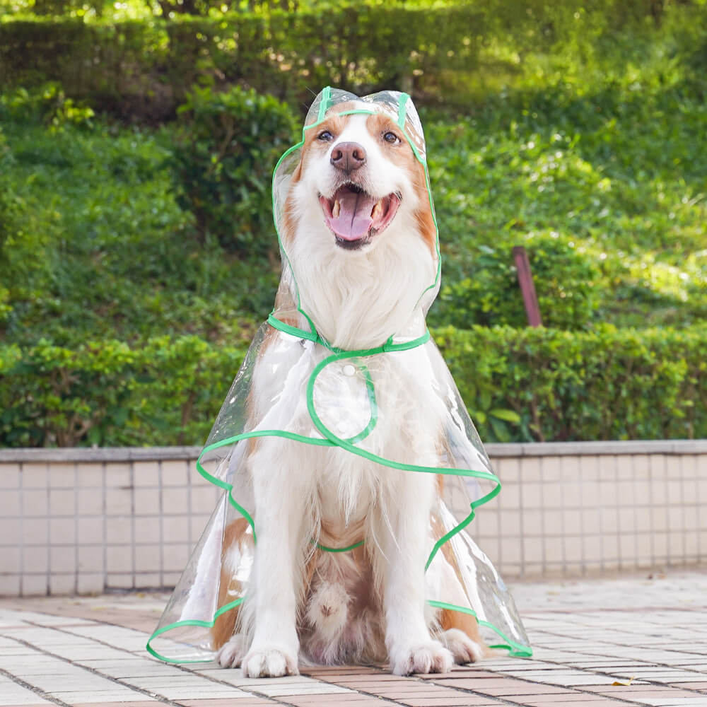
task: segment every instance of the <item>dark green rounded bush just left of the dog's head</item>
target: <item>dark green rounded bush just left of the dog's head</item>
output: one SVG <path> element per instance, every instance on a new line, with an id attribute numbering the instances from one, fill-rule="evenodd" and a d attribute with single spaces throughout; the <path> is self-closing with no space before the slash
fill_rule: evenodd
<path id="1" fill-rule="evenodd" d="M 177 203 L 194 214 L 201 241 L 263 255 L 272 250 L 272 170 L 293 144 L 291 110 L 254 90 L 196 88 L 179 109 L 168 160 Z"/>

